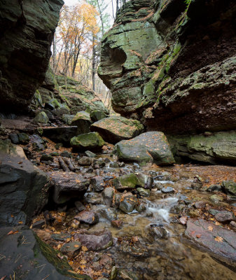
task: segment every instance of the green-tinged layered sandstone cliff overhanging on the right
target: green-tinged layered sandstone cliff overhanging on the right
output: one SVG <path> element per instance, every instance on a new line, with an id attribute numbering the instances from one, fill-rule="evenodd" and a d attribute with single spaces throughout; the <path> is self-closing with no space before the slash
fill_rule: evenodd
<path id="1" fill-rule="evenodd" d="M 113 109 L 148 130 L 236 128 L 235 1 L 128 1 L 102 42 Z"/>

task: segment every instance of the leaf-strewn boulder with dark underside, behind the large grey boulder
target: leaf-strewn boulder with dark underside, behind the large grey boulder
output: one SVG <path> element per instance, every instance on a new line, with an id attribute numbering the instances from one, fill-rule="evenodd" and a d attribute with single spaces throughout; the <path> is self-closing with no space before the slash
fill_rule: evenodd
<path id="1" fill-rule="evenodd" d="M 105 141 L 116 144 L 118 141 L 136 137 L 144 131 L 144 126 L 138 120 L 111 116 L 93 123 L 90 129 L 99 132 Z"/>

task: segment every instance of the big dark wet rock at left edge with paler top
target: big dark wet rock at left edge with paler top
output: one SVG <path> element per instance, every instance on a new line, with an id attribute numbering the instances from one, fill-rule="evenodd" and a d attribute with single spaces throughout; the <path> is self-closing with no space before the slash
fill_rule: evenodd
<path id="1" fill-rule="evenodd" d="M 0 227 L 29 224 L 48 202 L 49 186 L 20 146 L 0 141 Z"/>

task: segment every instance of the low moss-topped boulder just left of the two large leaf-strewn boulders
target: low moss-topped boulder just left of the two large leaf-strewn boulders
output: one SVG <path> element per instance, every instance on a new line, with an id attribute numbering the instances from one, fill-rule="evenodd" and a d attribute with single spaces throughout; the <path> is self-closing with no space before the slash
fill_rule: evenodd
<path id="1" fill-rule="evenodd" d="M 99 151 L 105 144 L 104 140 L 97 132 L 85 133 L 73 137 L 70 143 L 71 147 L 81 151 Z"/>

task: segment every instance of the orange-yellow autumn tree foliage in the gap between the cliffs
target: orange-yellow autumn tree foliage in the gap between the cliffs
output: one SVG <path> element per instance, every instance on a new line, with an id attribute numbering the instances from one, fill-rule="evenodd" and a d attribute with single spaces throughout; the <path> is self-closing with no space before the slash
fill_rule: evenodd
<path id="1" fill-rule="evenodd" d="M 81 52 L 92 50 L 91 38 L 99 31 L 97 15 L 96 8 L 85 1 L 76 6 L 63 6 L 55 38 L 57 51 L 53 51 L 54 71 L 60 67 L 65 76 L 69 72 L 74 77 Z"/>

